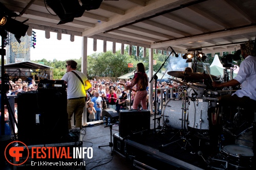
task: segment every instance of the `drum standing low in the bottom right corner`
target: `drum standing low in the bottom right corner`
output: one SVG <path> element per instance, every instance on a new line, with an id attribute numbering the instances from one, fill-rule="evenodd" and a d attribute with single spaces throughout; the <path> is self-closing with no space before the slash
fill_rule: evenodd
<path id="1" fill-rule="evenodd" d="M 248 147 L 236 144 L 225 145 L 222 148 L 222 153 L 228 164 L 236 169 L 252 166 L 253 151 Z"/>

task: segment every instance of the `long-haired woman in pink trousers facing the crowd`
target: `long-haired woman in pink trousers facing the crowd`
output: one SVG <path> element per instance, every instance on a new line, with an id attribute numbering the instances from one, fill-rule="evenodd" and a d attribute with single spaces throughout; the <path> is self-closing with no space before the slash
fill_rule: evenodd
<path id="1" fill-rule="evenodd" d="M 141 106 L 143 109 L 147 109 L 146 107 L 146 87 L 148 85 L 147 81 L 147 75 L 145 72 L 145 67 L 143 63 L 138 63 L 136 67 L 136 73 L 134 75 L 133 81 L 131 84 L 127 84 L 125 88 L 132 88 L 136 85 L 136 94 L 134 97 L 133 102 L 133 109 L 140 109 L 138 108 L 139 104 L 141 103 Z"/>

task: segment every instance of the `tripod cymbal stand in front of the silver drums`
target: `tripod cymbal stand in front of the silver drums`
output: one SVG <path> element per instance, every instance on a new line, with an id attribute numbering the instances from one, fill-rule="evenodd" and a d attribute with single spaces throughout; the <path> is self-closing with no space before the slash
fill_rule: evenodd
<path id="1" fill-rule="evenodd" d="M 170 142 L 170 143 L 167 143 L 167 144 L 162 144 L 161 147 L 167 147 L 168 145 L 172 144 L 172 143 L 175 143 L 175 142 L 178 142 L 179 140 L 182 140 L 183 141 L 183 146 L 181 146 L 181 149 L 184 149 L 186 150 L 186 145 L 189 144 L 189 146 L 193 149 L 193 152 L 190 152 L 190 153 L 195 153 L 194 152 L 194 148 L 192 147 L 192 145 L 190 144 L 190 142 L 188 141 L 188 139 L 186 138 L 186 135 L 189 134 L 189 132 L 186 132 L 184 133 L 184 131 L 186 130 L 185 128 L 185 125 L 186 125 L 186 120 L 185 120 L 185 117 L 186 117 L 186 92 L 187 92 L 187 86 L 186 86 L 186 83 L 184 81 L 184 90 L 183 90 L 183 102 L 182 102 L 182 117 L 181 117 L 181 129 L 172 137 L 170 138 L 169 140 L 172 140 L 178 133 L 180 133 L 180 139 L 178 140 L 175 140 L 173 142 Z M 179 143 L 178 143 L 179 144 Z M 179 144 L 180 145 L 180 144 Z"/>

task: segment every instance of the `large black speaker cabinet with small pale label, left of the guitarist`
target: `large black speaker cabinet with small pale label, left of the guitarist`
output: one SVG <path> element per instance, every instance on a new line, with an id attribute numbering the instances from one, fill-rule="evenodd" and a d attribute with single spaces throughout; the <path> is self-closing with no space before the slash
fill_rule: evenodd
<path id="1" fill-rule="evenodd" d="M 66 92 L 17 94 L 18 140 L 25 144 L 61 142 L 68 134 Z"/>

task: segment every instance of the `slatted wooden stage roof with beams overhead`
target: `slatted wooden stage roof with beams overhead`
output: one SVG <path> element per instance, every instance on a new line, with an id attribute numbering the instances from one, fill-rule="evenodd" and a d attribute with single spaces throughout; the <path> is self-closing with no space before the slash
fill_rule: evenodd
<path id="1" fill-rule="evenodd" d="M 256 36 L 255 0 L 119 0 L 102 1 L 96 10 L 85 11 L 72 22 L 60 21 L 45 0 L 3 0 L 32 29 L 84 36 L 157 50 L 186 53 L 202 48 L 203 53 L 234 51 Z M 71 1 L 70 1 L 71 2 Z M 79 1 L 81 5 L 81 1 Z M 113 45 L 113 50 L 115 47 Z"/>

